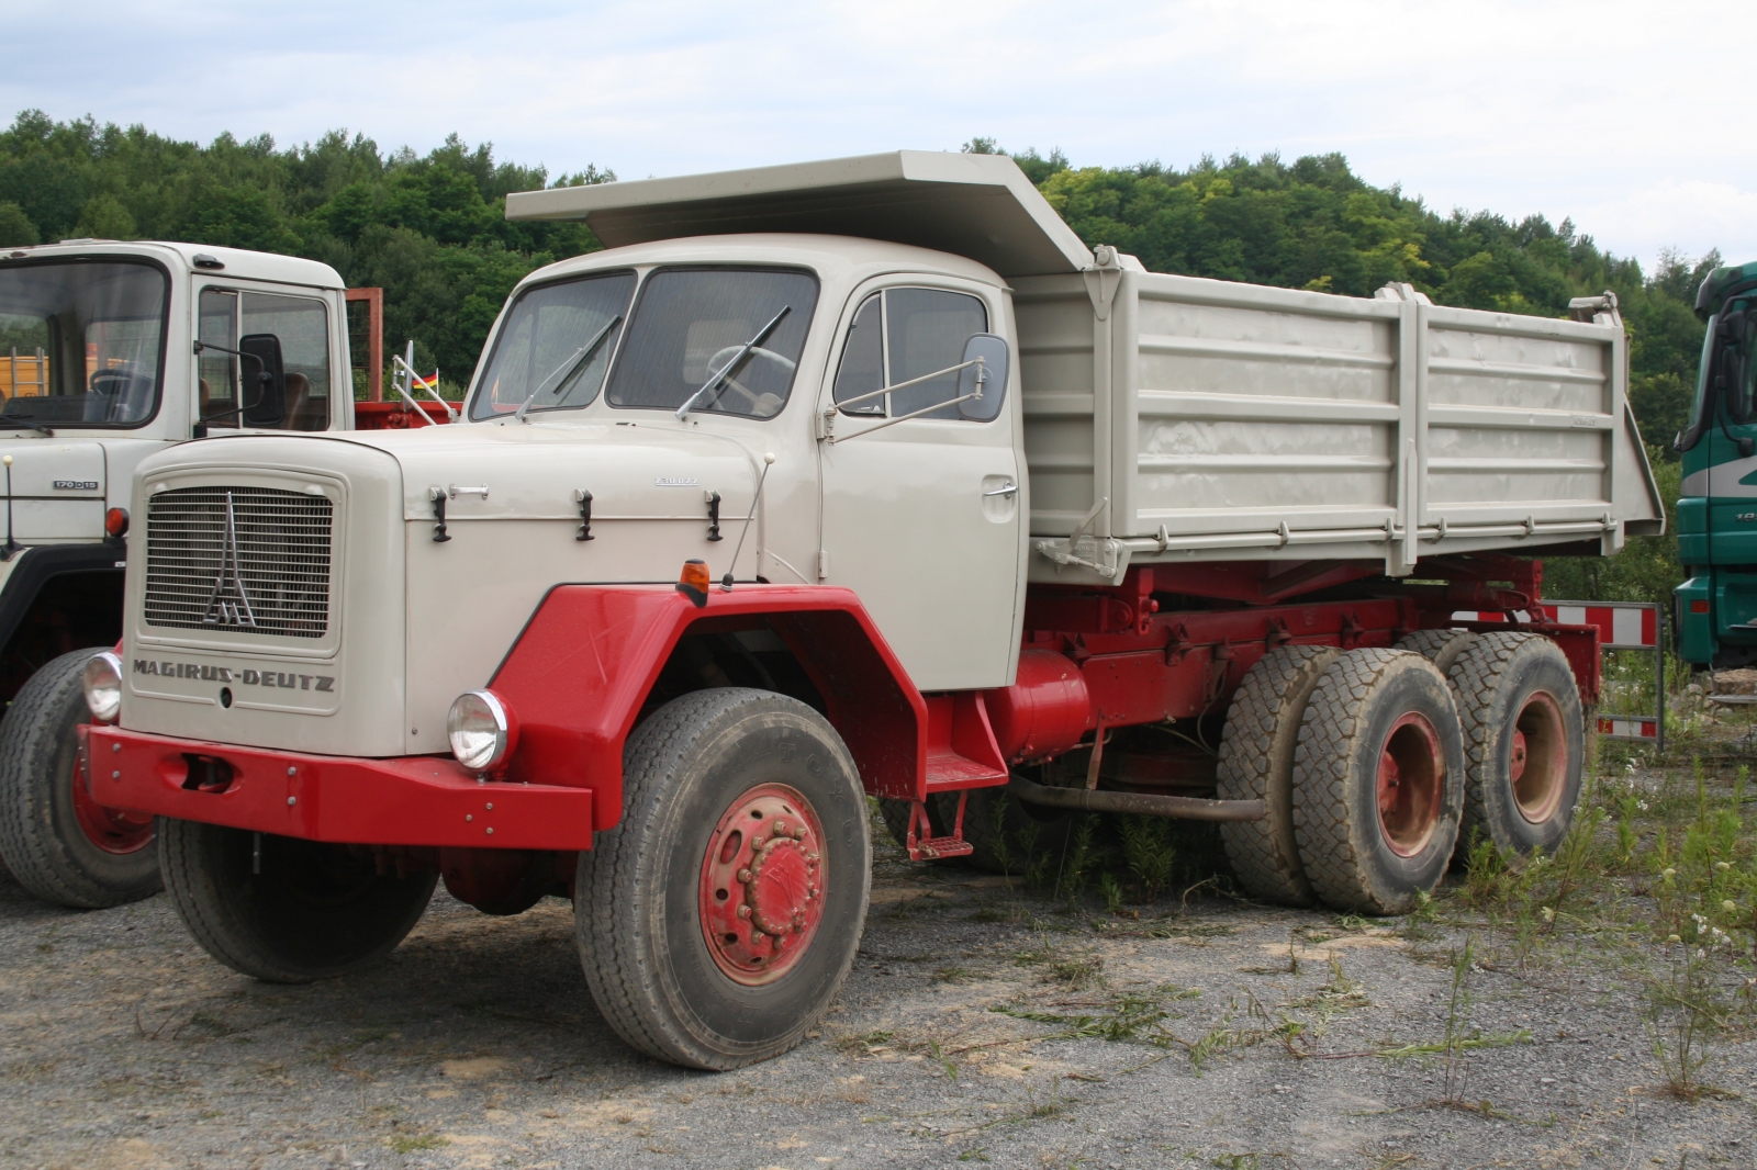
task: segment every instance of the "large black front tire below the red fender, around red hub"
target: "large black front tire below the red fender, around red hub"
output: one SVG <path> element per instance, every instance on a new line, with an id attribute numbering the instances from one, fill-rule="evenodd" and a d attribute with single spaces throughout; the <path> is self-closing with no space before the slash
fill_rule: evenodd
<path id="1" fill-rule="evenodd" d="M 791 964 L 752 984 L 722 968 L 727 950 L 717 942 L 710 950 L 703 903 L 710 847 L 722 863 L 743 856 L 722 820 L 764 785 L 794 792 L 815 813 L 821 908 Z M 580 854 L 575 882 L 580 963 L 604 1019 L 641 1052 L 689 1068 L 738 1068 L 799 1044 L 854 964 L 871 892 L 866 798 L 842 738 L 780 694 L 698 690 L 629 736 L 622 792 L 620 824 Z M 752 868 L 738 877 L 747 892 Z M 740 917 L 752 919 L 754 938 L 756 919 Z M 771 954 L 782 961 L 778 949 Z"/>

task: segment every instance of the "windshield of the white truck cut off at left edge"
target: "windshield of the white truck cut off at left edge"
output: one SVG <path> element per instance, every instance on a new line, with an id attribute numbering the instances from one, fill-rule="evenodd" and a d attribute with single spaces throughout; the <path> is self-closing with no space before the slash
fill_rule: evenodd
<path id="1" fill-rule="evenodd" d="M 170 281 L 149 264 L 0 269 L 0 427 L 137 427 L 158 409 Z"/>

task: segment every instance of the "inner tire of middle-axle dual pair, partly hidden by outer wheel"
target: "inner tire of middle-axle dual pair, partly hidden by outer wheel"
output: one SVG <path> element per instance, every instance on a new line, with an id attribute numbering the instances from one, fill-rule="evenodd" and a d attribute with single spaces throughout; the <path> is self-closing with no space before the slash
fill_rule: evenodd
<path id="1" fill-rule="evenodd" d="M 1256 899 L 1309 906 L 1312 885 L 1293 838 L 1293 752 L 1318 680 L 1342 652 L 1334 646 L 1270 650 L 1244 676 L 1219 738 L 1218 796 L 1263 801 L 1262 820 L 1226 822 L 1221 843 L 1239 885 Z"/>

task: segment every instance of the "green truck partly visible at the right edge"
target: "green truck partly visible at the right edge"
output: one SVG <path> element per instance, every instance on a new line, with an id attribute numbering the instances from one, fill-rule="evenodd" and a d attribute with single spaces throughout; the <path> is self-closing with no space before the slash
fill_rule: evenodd
<path id="1" fill-rule="evenodd" d="M 1710 272 L 1690 420 L 1678 434 L 1678 655 L 1708 668 L 1757 664 L 1757 264 Z"/>

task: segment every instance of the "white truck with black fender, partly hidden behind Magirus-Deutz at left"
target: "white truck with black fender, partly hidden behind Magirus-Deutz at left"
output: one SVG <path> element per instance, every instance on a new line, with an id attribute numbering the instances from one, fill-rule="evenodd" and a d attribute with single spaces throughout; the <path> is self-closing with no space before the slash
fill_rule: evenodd
<path id="1" fill-rule="evenodd" d="M 325 264 L 234 248 L 0 251 L 0 857 L 33 894 L 158 889 L 153 819 L 74 784 L 79 676 L 121 638 L 134 469 L 200 436 L 355 427 L 346 295 Z"/>

